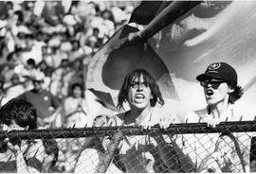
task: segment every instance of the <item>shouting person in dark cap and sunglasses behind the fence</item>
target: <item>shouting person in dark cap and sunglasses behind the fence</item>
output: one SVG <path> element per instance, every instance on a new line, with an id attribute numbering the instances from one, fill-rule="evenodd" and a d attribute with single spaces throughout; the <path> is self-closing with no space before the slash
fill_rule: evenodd
<path id="1" fill-rule="evenodd" d="M 233 104 L 243 96 L 243 89 L 229 63 L 210 63 L 205 73 L 196 79 L 203 87 L 208 105 L 188 113 L 185 116 L 187 123 L 204 122 L 215 127 L 223 121 L 240 120 L 241 114 L 236 112 Z M 250 138 L 244 132 L 232 135 L 236 136 L 239 146 L 235 146 L 236 140 L 220 133 L 184 134 L 186 141 L 182 148 L 190 155 L 197 172 L 246 172 L 249 170 Z"/>

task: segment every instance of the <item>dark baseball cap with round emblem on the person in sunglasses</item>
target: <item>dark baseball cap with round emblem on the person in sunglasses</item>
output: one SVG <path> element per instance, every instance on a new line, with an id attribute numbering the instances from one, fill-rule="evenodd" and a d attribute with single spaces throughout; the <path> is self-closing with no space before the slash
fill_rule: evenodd
<path id="1" fill-rule="evenodd" d="M 231 84 L 237 84 L 236 71 L 227 62 L 213 62 L 208 66 L 204 74 L 196 77 L 198 81 L 204 81 L 208 78 L 224 79 Z"/>

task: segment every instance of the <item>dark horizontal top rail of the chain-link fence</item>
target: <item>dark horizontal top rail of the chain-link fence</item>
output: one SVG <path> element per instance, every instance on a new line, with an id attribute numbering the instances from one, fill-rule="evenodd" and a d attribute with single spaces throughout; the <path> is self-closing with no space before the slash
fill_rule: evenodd
<path id="1" fill-rule="evenodd" d="M 151 130 L 143 130 L 139 126 L 127 127 L 92 127 L 92 128 L 60 128 L 42 130 L 0 130 L 0 140 L 7 137 L 20 139 L 48 139 L 48 138 L 79 138 L 89 136 L 109 136 L 122 131 L 124 135 L 157 134 L 188 134 L 188 133 L 221 133 L 221 132 L 245 132 L 256 131 L 255 121 L 221 122 L 215 128 L 207 126 L 207 123 L 181 123 L 171 124 L 167 129 L 158 126 Z"/>

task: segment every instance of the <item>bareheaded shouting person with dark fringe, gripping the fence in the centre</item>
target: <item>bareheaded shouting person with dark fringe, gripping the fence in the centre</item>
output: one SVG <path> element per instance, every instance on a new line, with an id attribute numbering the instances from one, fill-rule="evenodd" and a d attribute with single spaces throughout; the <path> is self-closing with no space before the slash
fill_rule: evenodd
<path id="1" fill-rule="evenodd" d="M 124 109 L 125 103 L 130 110 L 117 114 L 112 120 L 112 126 L 151 129 L 158 125 L 166 129 L 175 122 L 173 113 L 156 105 L 164 105 L 164 100 L 155 78 L 144 69 L 136 69 L 124 78 L 118 100 L 119 111 Z M 184 162 L 187 158 L 175 158 L 177 155 L 173 152 L 177 150 L 172 138 L 166 135 L 123 135 L 113 161 L 127 173 L 188 172 L 188 167 L 183 166 L 188 164 Z"/>

